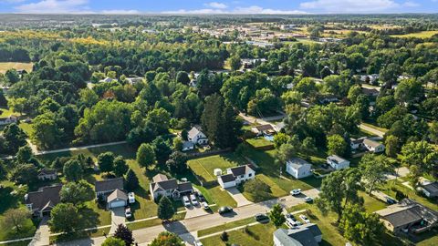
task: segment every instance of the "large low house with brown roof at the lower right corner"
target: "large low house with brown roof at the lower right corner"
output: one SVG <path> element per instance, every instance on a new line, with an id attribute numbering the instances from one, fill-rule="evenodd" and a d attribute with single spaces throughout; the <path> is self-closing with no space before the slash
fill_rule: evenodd
<path id="1" fill-rule="evenodd" d="M 410 199 L 403 199 L 376 213 L 379 214 L 388 231 L 394 234 L 421 233 L 430 231 L 438 225 L 438 211 L 431 210 Z"/>

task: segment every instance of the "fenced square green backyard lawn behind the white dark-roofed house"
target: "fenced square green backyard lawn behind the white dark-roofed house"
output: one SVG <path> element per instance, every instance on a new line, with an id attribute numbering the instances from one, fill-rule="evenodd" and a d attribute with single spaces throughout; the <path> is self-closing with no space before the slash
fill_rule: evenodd
<path id="1" fill-rule="evenodd" d="M 187 163 L 196 175 L 203 181 L 214 181 L 214 169 L 222 169 L 223 172 L 228 168 L 233 168 L 246 164 L 245 159 L 234 153 L 226 153 L 200 159 L 191 159 Z"/>

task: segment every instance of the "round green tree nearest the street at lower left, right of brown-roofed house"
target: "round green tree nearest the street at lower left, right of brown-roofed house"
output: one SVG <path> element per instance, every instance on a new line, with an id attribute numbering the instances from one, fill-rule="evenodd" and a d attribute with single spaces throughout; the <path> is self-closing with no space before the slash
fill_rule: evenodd
<path id="1" fill-rule="evenodd" d="M 71 203 L 58 203 L 51 212 L 48 220 L 50 231 L 68 233 L 78 229 L 78 209 Z"/>

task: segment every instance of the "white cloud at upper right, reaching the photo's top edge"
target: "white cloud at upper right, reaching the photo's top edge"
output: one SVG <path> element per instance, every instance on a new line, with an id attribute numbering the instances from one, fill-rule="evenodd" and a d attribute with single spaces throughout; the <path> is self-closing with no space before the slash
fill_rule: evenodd
<path id="1" fill-rule="evenodd" d="M 392 0 L 315 0 L 300 4 L 303 9 L 316 9 L 329 13 L 391 12 L 400 6 Z"/>

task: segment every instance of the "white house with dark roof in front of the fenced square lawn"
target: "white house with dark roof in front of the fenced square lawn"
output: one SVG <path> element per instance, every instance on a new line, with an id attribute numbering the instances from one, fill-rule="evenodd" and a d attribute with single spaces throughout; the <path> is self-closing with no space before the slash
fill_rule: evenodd
<path id="1" fill-rule="evenodd" d="M 222 188 L 227 189 L 249 179 L 255 179 L 255 168 L 252 165 L 243 165 L 226 169 L 226 174 L 219 176 L 217 182 Z"/>

